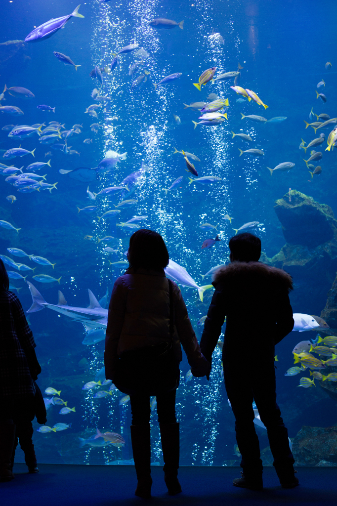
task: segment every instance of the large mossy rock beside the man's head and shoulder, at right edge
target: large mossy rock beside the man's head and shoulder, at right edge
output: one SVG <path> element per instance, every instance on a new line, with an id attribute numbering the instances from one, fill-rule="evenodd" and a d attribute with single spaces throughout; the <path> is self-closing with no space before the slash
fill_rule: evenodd
<path id="1" fill-rule="evenodd" d="M 291 191 L 290 202 L 288 197 L 276 200 L 274 207 L 287 243 L 274 257 L 262 255 L 261 260 L 293 277 L 294 312 L 318 314 L 337 271 L 337 220 L 331 207 L 312 197 L 297 190 Z M 322 318 L 333 327 L 327 314 Z"/>

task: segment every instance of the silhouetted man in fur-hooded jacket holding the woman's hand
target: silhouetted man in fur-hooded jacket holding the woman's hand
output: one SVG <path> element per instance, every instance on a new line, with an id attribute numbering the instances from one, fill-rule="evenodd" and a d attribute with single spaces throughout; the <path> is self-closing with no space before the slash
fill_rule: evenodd
<path id="1" fill-rule="evenodd" d="M 235 415 L 236 440 L 242 455 L 242 477 L 237 487 L 261 489 L 262 460 L 254 427 L 255 400 L 267 428 L 273 465 L 284 488 L 298 485 L 288 432 L 276 404 L 274 345 L 293 328 L 288 293 L 289 274 L 259 262 L 261 240 L 242 233 L 229 241 L 229 265 L 214 275 L 216 290 L 208 309 L 200 342 L 211 363 L 221 328 L 226 319 L 223 346 L 225 387 Z"/>

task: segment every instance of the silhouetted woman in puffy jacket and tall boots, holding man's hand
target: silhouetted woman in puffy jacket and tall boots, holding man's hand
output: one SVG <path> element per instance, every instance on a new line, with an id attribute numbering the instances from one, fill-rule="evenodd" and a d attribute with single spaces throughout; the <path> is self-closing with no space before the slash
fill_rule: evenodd
<path id="1" fill-rule="evenodd" d="M 208 373 L 178 285 L 165 277 L 168 252 L 162 237 L 138 230 L 130 238 L 130 267 L 114 283 L 109 305 L 104 363 L 107 379 L 130 395 L 131 440 L 138 485 L 151 494 L 150 396 L 156 396 L 164 459 L 164 480 L 171 495 L 178 481 L 179 423 L 175 401 L 179 384 L 180 343 L 194 376 Z"/>

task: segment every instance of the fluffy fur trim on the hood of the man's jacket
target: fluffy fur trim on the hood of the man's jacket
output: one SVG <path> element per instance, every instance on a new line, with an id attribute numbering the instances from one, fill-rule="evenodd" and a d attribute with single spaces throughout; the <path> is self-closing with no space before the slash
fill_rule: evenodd
<path id="1" fill-rule="evenodd" d="M 278 286 L 286 288 L 288 292 L 293 288 L 290 274 L 261 262 L 232 262 L 220 267 L 213 275 L 212 284 L 216 286 L 222 281 L 231 282 L 235 278 L 245 275 L 256 275 L 266 281 L 274 281 Z"/>

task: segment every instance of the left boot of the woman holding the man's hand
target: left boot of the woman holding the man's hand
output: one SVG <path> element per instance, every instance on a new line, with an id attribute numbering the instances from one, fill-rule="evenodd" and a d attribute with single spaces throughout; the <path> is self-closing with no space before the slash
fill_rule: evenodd
<path id="1" fill-rule="evenodd" d="M 137 488 L 135 495 L 151 497 L 151 441 L 150 424 L 132 425 L 131 442 L 137 474 Z"/>

